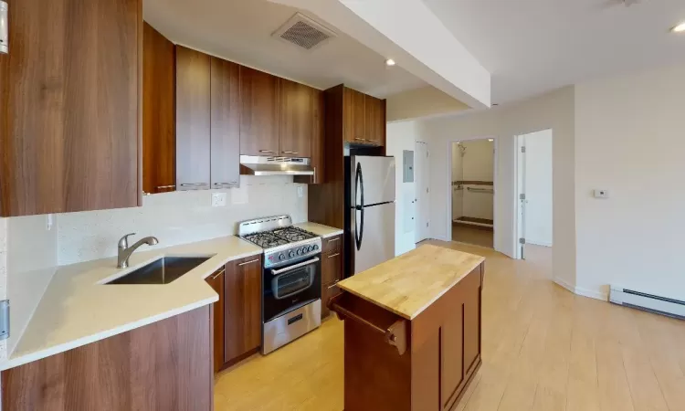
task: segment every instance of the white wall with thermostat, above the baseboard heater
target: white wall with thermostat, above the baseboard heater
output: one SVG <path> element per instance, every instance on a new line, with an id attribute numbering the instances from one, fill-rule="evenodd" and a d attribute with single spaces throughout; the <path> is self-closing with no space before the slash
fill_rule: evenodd
<path id="1" fill-rule="evenodd" d="M 576 86 L 576 285 L 584 292 L 604 295 L 618 283 L 685 300 L 683 96 L 685 65 Z M 595 188 L 609 198 L 593 198 Z"/>

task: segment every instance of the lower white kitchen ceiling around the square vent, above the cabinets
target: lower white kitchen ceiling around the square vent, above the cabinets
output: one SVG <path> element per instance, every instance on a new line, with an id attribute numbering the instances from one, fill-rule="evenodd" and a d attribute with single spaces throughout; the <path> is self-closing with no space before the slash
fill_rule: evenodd
<path id="1" fill-rule="evenodd" d="M 387 68 L 385 57 L 340 30 L 333 29 L 338 36 L 312 51 L 271 37 L 296 12 L 295 8 L 266 0 L 143 2 L 145 20 L 174 43 L 321 90 L 344 83 L 385 98 L 426 85 L 400 67 Z"/>

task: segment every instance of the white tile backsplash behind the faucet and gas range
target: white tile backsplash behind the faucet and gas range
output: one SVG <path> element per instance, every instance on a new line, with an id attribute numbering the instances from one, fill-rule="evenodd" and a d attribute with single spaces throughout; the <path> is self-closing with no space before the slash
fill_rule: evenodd
<path id="1" fill-rule="evenodd" d="M 226 193 L 227 205 L 213 207 L 214 193 Z M 160 241 L 155 247 L 163 248 L 229 236 L 240 221 L 285 214 L 294 223 L 307 221 L 307 185 L 285 175 L 241 175 L 239 188 L 149 195 L 142 207 L 60 214 L 58 264 L 115 256 L 117 241 L 128 233 L 137 233 L 130 243 L 154 236 Z"/>

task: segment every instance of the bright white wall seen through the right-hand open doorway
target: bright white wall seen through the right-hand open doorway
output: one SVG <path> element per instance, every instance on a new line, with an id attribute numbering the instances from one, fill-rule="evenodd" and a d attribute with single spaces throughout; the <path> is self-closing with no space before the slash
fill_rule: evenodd
<path id="1" fill-rule="evenodd" d="M 552 130 L 532 132 L 525 140 L 526 243 L 551 247 L 553 244 Z"/>

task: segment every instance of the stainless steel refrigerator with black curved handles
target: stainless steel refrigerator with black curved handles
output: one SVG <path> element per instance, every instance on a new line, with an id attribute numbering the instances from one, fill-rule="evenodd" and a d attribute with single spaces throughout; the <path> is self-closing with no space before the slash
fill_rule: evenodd
<path id="1" fill-rule="evenodd" d="M 395 157 L 351 155 L 345 171 L 349 277 L 395 258 Z"/>

